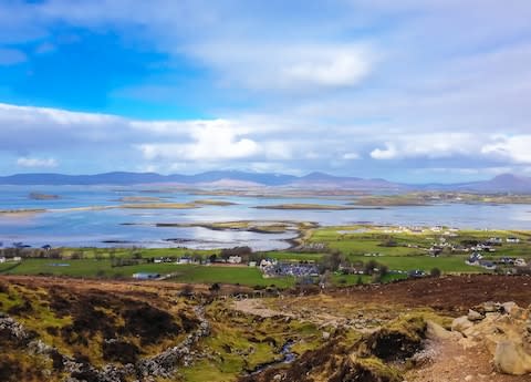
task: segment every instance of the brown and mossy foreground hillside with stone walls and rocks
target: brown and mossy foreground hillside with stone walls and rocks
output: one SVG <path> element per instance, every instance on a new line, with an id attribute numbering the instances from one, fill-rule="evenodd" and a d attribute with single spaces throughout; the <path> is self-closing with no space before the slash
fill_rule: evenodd
<path id="1" fill-rule="evenodd" d="M 2 277 L 0 380 L 529 381 L 530 287 L 467 276 L 246 298 L 229 286 Z"/>

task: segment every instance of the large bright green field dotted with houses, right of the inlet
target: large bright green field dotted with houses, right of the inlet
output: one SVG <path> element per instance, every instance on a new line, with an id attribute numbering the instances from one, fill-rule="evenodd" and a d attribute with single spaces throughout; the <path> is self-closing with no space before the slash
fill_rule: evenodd
<path id="1" fill-rule="evenodd" d="M 442 272 L 486 272 L 480 267 L 465 264 L 470 252 L 451 251 L 445 247 L 440 256 L 430 257 L 428 249 L 434 244 L 447 242 L 458 247 L 467 241 L 483 242 L 491 237 L 500 237 L 503 242 L 501 246 L 494 247 L 494 252 L 483 252 L 485 259 L 514 257 L 531 260 L 531 233 L 529 231 L 459 230 L 454 231 L 452 235 L 444 235 L 446 229 L 441 229 L 441 231 L 425 229 L 421 233 L 388 233 L 389 229 L 392 228 L 364 225 L 324 227 L 314 229 L 309 241 L 324 244 L 329 250 L 340 251 L 351 262 L 375 260 L 392 270 L 404 271 L 414 269 L 429 271 L 438 268 Z M 520 242 L 507 242 L 508 237 L 518 237 Z"/>

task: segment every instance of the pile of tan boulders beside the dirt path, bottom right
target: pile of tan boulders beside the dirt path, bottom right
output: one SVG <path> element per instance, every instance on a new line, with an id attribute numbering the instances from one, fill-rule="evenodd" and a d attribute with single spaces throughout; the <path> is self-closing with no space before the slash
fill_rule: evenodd
<path id="1" fill-rule="evenodd" d="M 499 372 L 531 373 L 531 307 L 486 302 L 455 319 L 451 328 L 464 335 L 464 347 L 486 347 Z"/>

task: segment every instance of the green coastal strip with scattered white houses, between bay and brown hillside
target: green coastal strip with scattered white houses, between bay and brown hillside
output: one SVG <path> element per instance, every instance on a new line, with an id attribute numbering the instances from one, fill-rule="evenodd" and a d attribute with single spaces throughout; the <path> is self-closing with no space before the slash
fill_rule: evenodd
<path id="1" fill-rule="evenodd" d="M 529 240 L 528 233 L 364 225 L 313 229 L 289 251 L 253 251 L 250 247 L 152 250 L 45 245 L 32 248 L 13 242 L 0 249 L 0 273 L 75 273 L 152 280 L 187 279 L 184 273 L 190 267 L 205 268 L 202 273 L 212 275 L 248 268 L 256 270 L 257 277 L 274 280 L 273 283 L 282 278 L 316 283 L 324 273 L 333 275 L 339 283 L 360 282 L 362 276 L 365 281 L 381 282 L 440 273 L 514 275 L 530 272 Z M 46 262 L 46 259 L 61 261 Z M 96 262 L 90 262 L 91 259 Z M 77 269 L 80 261 L 85 261 L 86 271 Z M 232 282 L 240 280 L 235 278 Z"/>

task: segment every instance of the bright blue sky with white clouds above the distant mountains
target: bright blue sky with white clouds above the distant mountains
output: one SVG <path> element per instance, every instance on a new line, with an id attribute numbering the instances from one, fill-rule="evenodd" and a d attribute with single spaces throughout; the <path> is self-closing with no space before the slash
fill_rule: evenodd
<path id="1" fill-rule="evenodd" d="M 0 0 L 0 174 L 531 176 L 529 0 Z"/>

